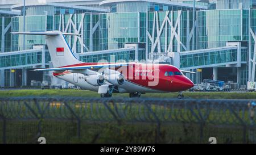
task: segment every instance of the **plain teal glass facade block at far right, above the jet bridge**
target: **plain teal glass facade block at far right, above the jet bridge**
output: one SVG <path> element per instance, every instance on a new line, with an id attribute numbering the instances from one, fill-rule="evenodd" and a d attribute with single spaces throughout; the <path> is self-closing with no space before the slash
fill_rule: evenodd
<path id="1" fill-rule="evenodd" d="M 224 47 L 227 41 L 248 41 L 248 10 L 198 11 L 197 49 Z"/>

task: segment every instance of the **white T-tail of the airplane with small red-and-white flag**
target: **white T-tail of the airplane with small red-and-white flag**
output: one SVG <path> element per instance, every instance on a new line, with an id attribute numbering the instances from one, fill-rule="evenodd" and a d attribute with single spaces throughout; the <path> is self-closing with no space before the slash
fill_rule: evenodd
<path id="1" fill-rule="evenodd" d="M 81 35 L 77 33 L 62 33 L 60 31 L 47 32 L 11 32 L 20 35 L 45 35 L 46 44 L 51 56 L 52 65 L 54 68 L 61 66 L 68 66 L 73 64 L 80 64 L 69 47 L 64 35 Z"/>

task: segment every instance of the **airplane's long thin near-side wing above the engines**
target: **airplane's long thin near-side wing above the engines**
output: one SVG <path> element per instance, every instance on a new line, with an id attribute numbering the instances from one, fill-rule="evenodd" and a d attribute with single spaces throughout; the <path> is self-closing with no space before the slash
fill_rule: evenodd
<path id="1" fill-rule="evenodd" d="M 121 66 L 128 66 L 129 64 L 100 64 L 100 65 L 84 65 L 84 66 L 71 66 L 62 68 L 45 68 L 34 69 L 34 71 L 64 71 L 64 70 L 81 70 L 81 69 L 101 69 L 101 68 L 115 68 Z"/>

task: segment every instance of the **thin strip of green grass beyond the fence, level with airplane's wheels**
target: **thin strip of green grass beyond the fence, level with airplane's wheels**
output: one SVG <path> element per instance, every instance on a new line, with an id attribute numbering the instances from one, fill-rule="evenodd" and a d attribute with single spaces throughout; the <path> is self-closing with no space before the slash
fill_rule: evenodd
<path id="1" fill-rule="evenodd" d="M 145 98 L 176 98 L 178 93 L 146 93 Z M 256 93 L 237 92 L 184 92 L 185 98 L 195 99 L 256 99 Z M 3 90 L 0 97 L 29 97 L 29 96 L 61 96 L 61 97 L 100 97 L 100 94 L 88 90 Z M 129 97 L 128 93 L 113 94 L 113 97 Z"/>

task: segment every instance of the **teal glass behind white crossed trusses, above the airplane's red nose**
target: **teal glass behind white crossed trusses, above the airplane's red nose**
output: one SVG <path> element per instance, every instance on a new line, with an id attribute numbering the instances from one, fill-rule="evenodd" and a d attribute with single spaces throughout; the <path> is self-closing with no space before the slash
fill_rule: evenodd
<path id="1" fill-rule="evenodd" d="M 162 26 L 164 22 L 164 18 L 166 16 L 167 12 L 166 11 L 159 11 L 156 15 L 158 16 L 158 24 L 159 24 L 159 29 Z M 148 32 L 150 33 L 151 36 L 153 36 L 154 32 L 154 40 L 157 39 L 156 35 L 156 22 L 154 21 L 154 15 L 155 12 L 148 12 Z M 178 18 L 178 11 L 172 11 L 168 14 L 168 18 L 170 21 L 172 21 L 172 27 L 175 27 L 176 23 L 179 23 L 179 27 L 176 28 L 175 33 L 177 33 L 177 36 L 179 36 L 180 42 L 183 43 L 184 45 L 187 44 L 187 39 L 189 36 L 189 33 L 192 30 L 192 24 L 193 24 L 193 13 L 192 11 L 181 11 L 180 17 Z M 177 21 L 177 19 L 180 19 Z M 156 18 L 155 18 L 156 20 Z M 189 27 L 188 27 L 189 26 Z M 154 28 L 154 31 L 153 31 Z M 177 37 L 173 37 L 174 39 L 172 40 L 172 34 L 174 31 L 171 30 L 171 26 L 167 24 L 167 27 L 164 26 L 164 28 L 167 28 L 167 36 L 166 33 L 163 31 L 160 33 L 160 52 L 165 51 L 165 46 L 170 44 L 170 41 L 172 41 L 172 51 L 171 52 L 177 52 L 178 51 L 178 40 Z M 178 30 L 179 29 L 179 30 Z M 167 37 L 167 39 L 166 39 Z M 167 43 L 166 43 L 167 41 Z M 148 49 L 152 48 L 152 42 L 150 39 L 148 39 Z M 184 47 L 180 44 L 180 52 L 186 51 Z M 187 47 L 188 48 L 188 47 Z M 192 40 L 189 41 L 189 49 L 192 49 Z M 154 52 L 159 52 L 158 48 L 154 49 Z"/>

